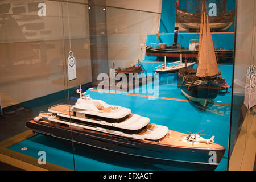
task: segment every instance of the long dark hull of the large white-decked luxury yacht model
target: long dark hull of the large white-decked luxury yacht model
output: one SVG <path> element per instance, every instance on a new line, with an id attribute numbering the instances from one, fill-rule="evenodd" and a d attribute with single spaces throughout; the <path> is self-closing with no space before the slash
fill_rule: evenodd
<path id="1" fill-rule="evenodd" d="M 167 146 L 164 144 L 156 144 L 154 142 L 145 142 L 136 139 L 127 139 L 112 134 L 101 133 L 90 130 L 77 130 L 64 126 L 54 126 L 44 123 L 27 122 L 26 127 L 36 133 L 49 135 L 52 137 L 72 140 L 76 143 L 85 144 L 87 146 L 101 148 L 103 150 L 118 152 L 137 156 L 139 158 L 147 158 L 151 160 L 160 160 L 162 162 L 178 162 L 185 166 L 193 166 L 194 169 L 213 170 L 218 166 L 225 148 L 211 148 L 207 145 L 205 148 L 191 148 L 179 146 Z M 71 138 L 72 134 L 72 138 Z M 184 133 L 172 131 L 177 137 L 182 137 Z M 209 152 L 215 151 L 217 154 L 216 164 L 209 163 Z"/>

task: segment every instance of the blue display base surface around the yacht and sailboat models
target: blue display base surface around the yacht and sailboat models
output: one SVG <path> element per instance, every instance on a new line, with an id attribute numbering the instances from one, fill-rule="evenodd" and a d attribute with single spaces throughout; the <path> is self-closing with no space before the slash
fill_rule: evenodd
<path id="1" fill-rule="evenodd" d="M 144 64 L 144 63 L 143 63 Z M 151 63 L 144 64 L 145 67 L 152 67 Z M 155 63 L 152 63 L 155 64 Z M 232 82 L 232 66 L 220 65 L 222 75 L 225 76 L 228 84 Z M 171 84 L 171 77 L 173 82 Z M 159 84 L 159 97 L 179 98 L 186 100 L 180 89 L 177 88 L 175 74 L 169 76 L 167 84 L 167 77 L 162 77 Z M 144 85 L 146 86 L 146 85 Z M 154 87 L 153 87 L 154 88 Z M 231 90 L 229 90 L 231 91 Z M 207 110 L 201 109 L 200 105 L 167 99 L 148 99 L 147 97 L 123 95 L 117 93 L 102 93 L 88 90 L 86 92 L 94 99 L 104 100 L 108 104 L 120 105 L 128 107 L 134 114 L 139 114 L 150 118 L 152 123 L 165 125 L 170 130 L 187 133 L 191 131 L 196 133 L 204 130 L 202 134 L 214 135 L 214 141 L 228 148 L 229 138 L 229 122 L 230 122 L 230 106 L 222 105 L 208 105 Z M 131 90 L 129 93 L 135 93 Z M 148 93 L 137 93 L 142 95 L 150 95 Z M 222 104 L 230 104 L 231 93 L 219 95 L 216 101 L 221 101 Z M 28 150 L 22 151 L 20 148 L 27 147 Z M 75 167 L 77 170 L 138 170 L 138 169 L 163 169 L 174 170 L 171 166 L 163 166 L 160 164 L 154 166 L 143 166 L 135 161 L 120 162 L 117 159 L 111 159 L 109 156 L 94 155 L 93 149 L 83 147 L 85 152 L 81 150 L 75 152 Z M 64 140 L 52 139 L 37 135 L 30 139 L 24 140 L 21 143 L 9 147 L 10 150 L 21 152 L 38 158 L 38 151 L 43 150 L 47 153 L 47 162 L 57 164 L 69 169 L 73 169 L 73 154 L 71 144 L 64 142 Z M 88 152 L 89 150 L 89 152 Z M 105 152 L 100 152 L 104 154 Z M 225 158 L 228 157 L 228 150 L 226 150 Z M 225 170 L 227 166 L 227 159 L 223 158 L 216 170 Z M 131 164 L 130 164 L 131 163 Z M 157 167 L 156 167 L 157 166 Z M 179 168 L 180 169 L 180 168 Z"/>

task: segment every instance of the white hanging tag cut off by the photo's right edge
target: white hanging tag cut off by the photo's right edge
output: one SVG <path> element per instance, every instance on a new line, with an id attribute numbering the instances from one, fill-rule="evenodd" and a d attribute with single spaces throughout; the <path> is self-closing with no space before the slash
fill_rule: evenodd
<path id="1" fill-rule="evenodd" d="M 256 105 L 256 69 L 254 65 L 251 66 L 251 79 L 249 90 L 249 109 Z"/>

